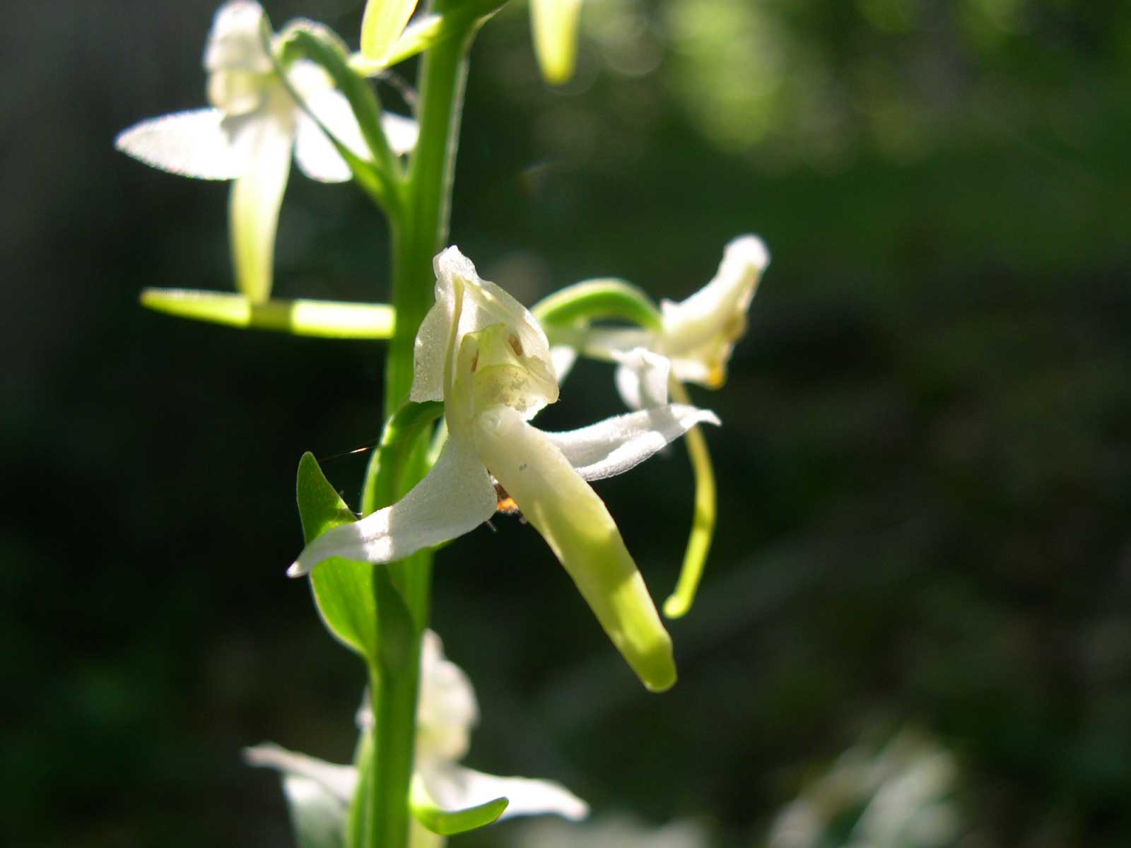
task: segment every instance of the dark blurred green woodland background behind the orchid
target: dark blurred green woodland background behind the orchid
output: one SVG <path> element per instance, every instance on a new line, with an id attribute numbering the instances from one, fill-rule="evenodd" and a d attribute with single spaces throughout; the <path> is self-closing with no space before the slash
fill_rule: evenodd
<path id="1" fill-rule="evenodd" d="M 361 6 L 266 3 L 354 43 Z M 375 436 L 382 347 L 137 305 L 231 287 L 227 187 L 112 148 L 205 104 L 214 8 L 55 0 L 0 31 L 9 845 L 286 846 L 278 782 L 241 747 L 354 742 L 361 668 L 283 571 L 297 459 Z M 1131 843 L 1131 7 L 582 17 L 560 92 L 525 5 L 483 31 L 451 240 L 527 303 L 606 275 L 680 298 L 745 232 L 774 261 L 728 384 L 694 392 L 725 426 L 718 537 L 671 624 L 680 684 L 648 695 L 500 520 L 437 569 L 434 626 L 483 711 L 468 764 L 761 845 L 843 751 L 915 727 L 959 764 L 956 843 Z M 386 259 L 360 192 L 292 176 L 277 294 L 382 300 Z M 543 426 L 619 410 L 596 364 L 562 398 Z M 353 493 L 364 462 L 325 469 Z M 685 455 L 598 491 L 663 599 Z"/>

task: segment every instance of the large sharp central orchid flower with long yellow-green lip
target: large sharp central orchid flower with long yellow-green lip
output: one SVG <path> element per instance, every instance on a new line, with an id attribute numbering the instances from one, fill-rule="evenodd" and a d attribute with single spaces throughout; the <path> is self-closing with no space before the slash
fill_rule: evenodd
<path id="1" fill-rule="evenodd" d="M 542 534 L 645 685 L 675 682 L 672 642 L 604 502 L 586 481 L 632 468 L 714 413 L 670 404 L 567 433 L 529 419 L 558 400 L 546 336 L 457 248 L 435 257 L 435 305 L 416 336 L 411 399 L 443 400 L 448 440 L 400 501 L 319 536 L 287 572 L 330 556 L 386 563 L 456 538 L 495 512 L 498 484 Z"/>

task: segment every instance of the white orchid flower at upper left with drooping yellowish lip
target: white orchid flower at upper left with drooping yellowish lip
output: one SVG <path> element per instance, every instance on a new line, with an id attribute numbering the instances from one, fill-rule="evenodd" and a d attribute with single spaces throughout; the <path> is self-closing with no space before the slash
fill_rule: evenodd
<path id="1" fill-rule="evenodd" d="M 114 141 L 118 149 L 163 171 L 233 181 L 228 226 L 236 287 L 253 303 L 270 294 L 275 232 L 292 153 L 313 180 L 351 178 L 345 161 L 276 76 L 260 36 L 265 19 L 259 3 L 250 0 L 222 6 L 204 55 L 211 109 L 141 121 Z M 279 41 L 276 36 L 275 43 Z M 347 148 L 370 158 L 353 111 L 329 75 L 299 60 L 287 69 L 287 81 Z M 414 121 L 387 113 L 382 126 L 395 153 L 415 146 Z"/>

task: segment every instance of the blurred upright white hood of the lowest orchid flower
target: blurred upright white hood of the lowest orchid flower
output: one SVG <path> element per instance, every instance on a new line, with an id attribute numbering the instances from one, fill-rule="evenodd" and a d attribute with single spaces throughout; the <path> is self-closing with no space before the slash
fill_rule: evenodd
<path id="1" fill-rule="evenodd" d="M 418 760 L 463 759 L 470 730 L 480 720 L 475 690 L 464 669 L 443 656 L 443 643 L 431 630 L 421 646 L 421 689 L 416 704 Z"/>

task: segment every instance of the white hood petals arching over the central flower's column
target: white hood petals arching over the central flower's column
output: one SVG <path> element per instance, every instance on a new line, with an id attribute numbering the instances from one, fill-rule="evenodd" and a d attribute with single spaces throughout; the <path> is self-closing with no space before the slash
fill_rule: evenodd
<path id="1" fill-rule="evenodd" d="M 518 341 L 524 363 L 546 389 L 542 405 L 524 413 L 530 418 L 545 404 L 558 399 L 550 345 L 542 326 L 507 292 L 480 278 L 458 248 L 448 248 L 432 260 L 435 270 L 435 305 L 416 334 L 413 388 L 415 401 L 443 397 L 444 377 L 455 365 L 460 340 L 492 325 L 503 323 Z"/>

